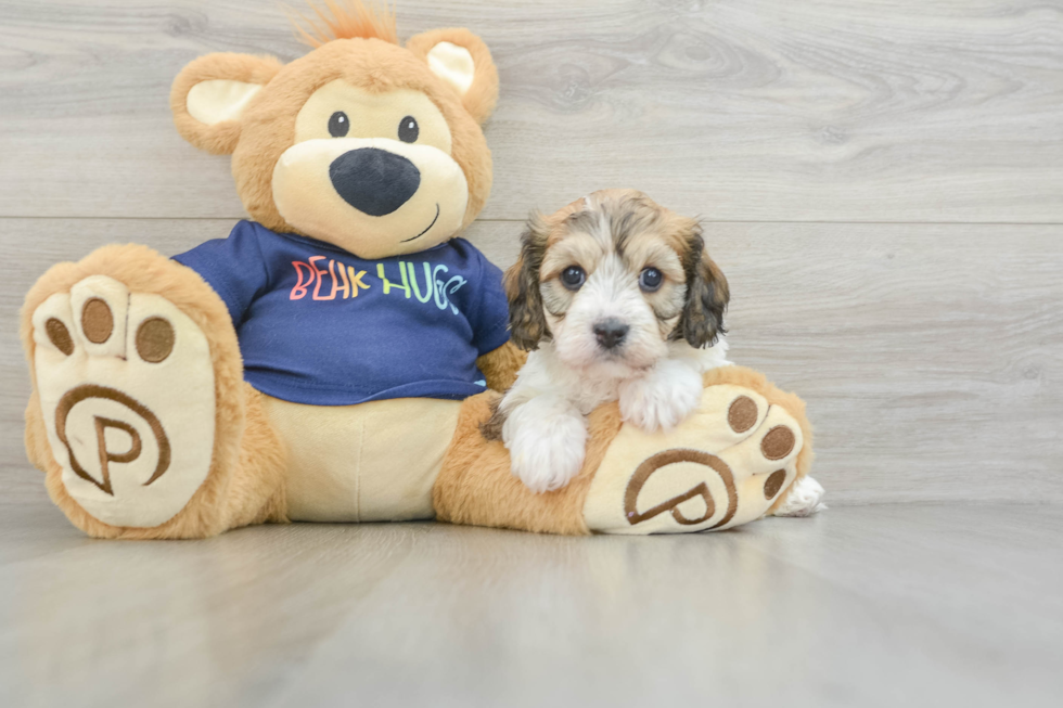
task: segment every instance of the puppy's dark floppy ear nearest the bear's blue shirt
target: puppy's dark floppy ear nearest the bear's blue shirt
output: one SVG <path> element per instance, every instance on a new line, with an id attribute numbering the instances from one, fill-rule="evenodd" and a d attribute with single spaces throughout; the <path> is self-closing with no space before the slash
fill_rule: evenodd
<path id="1" fill-rule="evenodd" d="M 539 342 L 550 335 L 542 310 L 542 293 L 539 291 L 539 268 L 547 250 L 549 233 L 542 216 L 532 215 L 527 229 L 521 235 L 521 256 L 505 271 L 510 336 L 513 344 L 526 351 L 538 349 Z"/>

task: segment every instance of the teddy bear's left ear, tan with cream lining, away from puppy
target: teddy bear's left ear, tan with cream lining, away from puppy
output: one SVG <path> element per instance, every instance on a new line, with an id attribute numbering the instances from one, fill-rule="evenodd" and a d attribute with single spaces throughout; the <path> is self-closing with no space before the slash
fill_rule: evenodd
<path id="1" fill-rule="evenodd" d="M 232 153 L 244 108 L 281 66 L 272 56 L 252 54 L 206 54 L 192 61 L 170 90 L 177 131 L 200 150 Z"/>

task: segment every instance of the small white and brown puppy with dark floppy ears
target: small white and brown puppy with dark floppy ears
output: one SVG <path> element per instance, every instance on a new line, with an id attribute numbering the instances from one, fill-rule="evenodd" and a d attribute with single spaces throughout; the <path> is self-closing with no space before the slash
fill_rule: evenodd
<path id="1" fill-rule="evenodd" d="M 730 363 L 727 279 L 701 228 L 635 190 L 534 215 L 505 289 L 513 342 L 532 353 L 485 433 L 500 428 L 536 492 L 582 467 L 599 404 L 619 400 L 625 421 L 668 429 L 701 400 L 702 372 Z"/>

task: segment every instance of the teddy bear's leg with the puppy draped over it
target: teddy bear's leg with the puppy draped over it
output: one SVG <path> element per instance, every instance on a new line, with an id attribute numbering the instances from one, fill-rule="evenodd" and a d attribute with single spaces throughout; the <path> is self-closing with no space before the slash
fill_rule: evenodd
<path id="1" fill-rule="evenodd" d="M 440 519 L 553 533 L 676 533 L 732 528 L 783 507 L 811 465 L 804 402 L 740 366 L 707 372 L 702 402 L 667 433 L 623 425 L 617 406 L 589 417 L 582 471 L 536 494 L 513 477 L 469 399 L 434 501 Z"/>

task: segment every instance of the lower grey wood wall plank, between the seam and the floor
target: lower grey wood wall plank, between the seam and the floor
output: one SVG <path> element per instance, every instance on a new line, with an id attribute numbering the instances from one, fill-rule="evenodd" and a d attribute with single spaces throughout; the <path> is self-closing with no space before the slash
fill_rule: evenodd
<path id="1" fill-rule="evenodd" d="M 469 232 L 503 267 L 520 223 Z M 229 220 L 0 219 L 17 263 L 0 318 L 51 263 L 108 242 L 172 255 Z M 798 391 L 833 503 L 1063 502 L 1063 227 L 709 224 L 728 275 L 732 359 Z M 0 339 L 0 487 L 42 499 L 22 450 L 28 378 Z"/>

